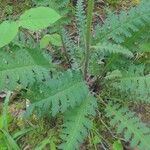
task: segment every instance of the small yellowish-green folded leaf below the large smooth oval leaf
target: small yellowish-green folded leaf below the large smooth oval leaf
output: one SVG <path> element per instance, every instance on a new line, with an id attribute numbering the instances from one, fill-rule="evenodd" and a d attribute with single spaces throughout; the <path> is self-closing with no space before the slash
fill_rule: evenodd
<path id="1" fill-rule="evenodd" d="M 61 36 L 59 34 L 46 34 L 40 41 L 40 47 L 46 48 L 49 43 L 54 46 L 62 46 Z"/>

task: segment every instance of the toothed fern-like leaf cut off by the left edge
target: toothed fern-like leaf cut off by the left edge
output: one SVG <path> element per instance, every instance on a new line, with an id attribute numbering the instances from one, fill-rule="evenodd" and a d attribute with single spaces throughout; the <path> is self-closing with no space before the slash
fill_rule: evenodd
<path id="1" fill-rule="evenodd" d="M 18 83 L 25 88 L 35 80 L 48 78 L 52 69 L 48 55 L 38 49 L 12 49 L 0 50 L 0 90 L 14 89 Z"/>

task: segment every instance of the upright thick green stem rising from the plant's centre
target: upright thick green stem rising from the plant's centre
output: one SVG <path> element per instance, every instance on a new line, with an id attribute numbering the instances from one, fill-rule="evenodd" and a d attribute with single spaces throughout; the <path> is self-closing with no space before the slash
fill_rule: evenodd
<path id="1" fill-rule="evenodd" d="M 85 54 L 85 65 L 84 65 L 84 78 L 85 79 L 87 77 L 87 70 L 88 70 L 89 56 L 90 56 L 93 9 L 94 9 L 94 0 L 88 0 L 87 28 L 86 28 L 86 54 Z"/>

